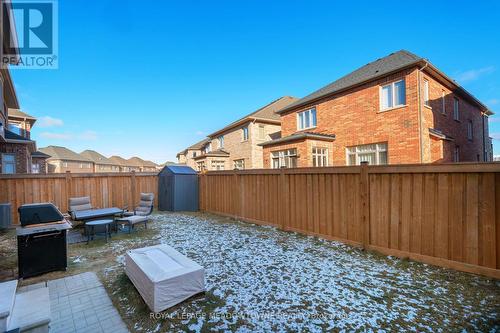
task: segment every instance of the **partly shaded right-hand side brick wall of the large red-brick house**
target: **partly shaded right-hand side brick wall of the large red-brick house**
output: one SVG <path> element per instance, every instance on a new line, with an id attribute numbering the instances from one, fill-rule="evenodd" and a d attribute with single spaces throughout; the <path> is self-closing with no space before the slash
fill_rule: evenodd
<path id="1" fill-rule="evenodd" d="M 460 147 L 460 161 L 473 162 L 483 161 L 483 122 L 481 110 L 465 100 L 459 94 L 439 83 L 432 76 L 424 73 L 422 75 L 422 91 L 424 89 L 424 80 L 429 82 L 429 106 L 424 106 L 422 112 L 424 115 L 423 141 L 424 141 L 424 162 L 453 162 L 453 151 L 455 146 Z M 442 94 L 444 92 L 445 112 L 443 113 Z M 453 100 L 457 97 L 459 100 L 460 120 L 453 119 Z M 422 93 L 423 98 L 423 93 Z M 424 105 L 422 100 L 422 105 Z M 473 123 L 473 138 L 470 141 L 467 138 L 467 123 L 471 120 Z M 444 157 L 439 156 L 437 151 L 429 151 L 427 147 L 432 147 L 432 139 L 429 136 L 428 129 L 435 128 L 441 130 L 443 134 L 450 136 L 454 141 L 443 144 Z M 486 127 L 486 135 L 487 127 Z"/>

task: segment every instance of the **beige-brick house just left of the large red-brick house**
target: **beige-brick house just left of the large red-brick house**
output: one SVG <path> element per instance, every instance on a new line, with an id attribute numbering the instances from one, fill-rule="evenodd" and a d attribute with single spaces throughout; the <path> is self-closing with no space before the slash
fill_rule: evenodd
<path id="1" fill-rule="evenodd" d="M 276 111 L 297 100 L 291 96 L 281 97 L 210 134 L 202 154 L 193 158 L 196 170 L 262 168 L 259 144 L 279 137 L 281 121 Z"/>

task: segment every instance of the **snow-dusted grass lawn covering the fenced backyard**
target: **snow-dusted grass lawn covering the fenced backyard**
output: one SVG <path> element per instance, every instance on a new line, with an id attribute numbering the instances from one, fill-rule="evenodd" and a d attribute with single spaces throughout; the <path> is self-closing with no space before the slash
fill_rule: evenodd
<path id="1" fill-rule="evenodd" d="M 207 292 L 152 317 L 123 270 L 127 249 L 166 243 L 206 269 Z M 15 266 L 12 232 L 0 270 Z M 96 271 L 131 331 L 500 329 L 500 281 L 206 214 L 155 214 L 148 230 L 69 246 L 67 272 Z"/>

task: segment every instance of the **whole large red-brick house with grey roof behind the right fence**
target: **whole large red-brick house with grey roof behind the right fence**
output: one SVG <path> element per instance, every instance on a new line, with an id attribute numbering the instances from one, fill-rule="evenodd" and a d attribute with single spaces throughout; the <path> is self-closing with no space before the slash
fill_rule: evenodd
<path id="1" fill-rule="evenodd" d="M 278 111 L 266 168 L 490 161 L 488 108 L 408 51 L 371 62 Z"/>

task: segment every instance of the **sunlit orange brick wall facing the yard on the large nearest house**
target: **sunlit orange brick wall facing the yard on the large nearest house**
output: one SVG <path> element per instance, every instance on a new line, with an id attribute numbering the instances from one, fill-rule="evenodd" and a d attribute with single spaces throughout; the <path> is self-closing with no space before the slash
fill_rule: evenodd
<path id="1" fill-rule="evenodd" d="M 417 77 L 416 69 L 408 69 L 324 99 L 315 104 L 317 127 L 307 131 L 336 135 L 333 165 L 346 164 L 346 147 L 377 142 L 388 143 L 389 163 L 419 163 Z M 406 82 L 406 106 L 381 112 L 380 85 L 402 78 Z M 297 132 L 296 113 L 282 116 L 282 136 Z"/>

